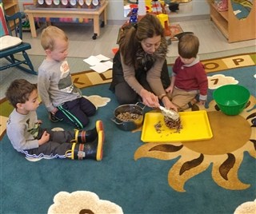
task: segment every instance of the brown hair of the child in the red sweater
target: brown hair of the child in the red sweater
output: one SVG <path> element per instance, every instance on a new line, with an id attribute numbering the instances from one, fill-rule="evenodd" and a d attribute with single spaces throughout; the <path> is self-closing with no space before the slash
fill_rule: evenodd
<path id="1" fill-rule="evenodd" d="M 178 54 L 183 58 L 197 57 L 199 40 L 193 34 L 186 34 L 178 41 Z"/>

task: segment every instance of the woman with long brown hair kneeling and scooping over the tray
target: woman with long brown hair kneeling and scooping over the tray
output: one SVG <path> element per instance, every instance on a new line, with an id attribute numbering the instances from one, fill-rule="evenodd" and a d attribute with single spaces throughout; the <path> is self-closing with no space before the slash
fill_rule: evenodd
<path id="1" fill-rule="evenodd" d="M 177 110 L 165 91 L 170 85 L 166 53 L 164 29 L 153 14 L 122 31 L 110 85 L 119 104 L 142 99 L 149 107 L 159 107 L 159 98 L 167 109 Z"/>

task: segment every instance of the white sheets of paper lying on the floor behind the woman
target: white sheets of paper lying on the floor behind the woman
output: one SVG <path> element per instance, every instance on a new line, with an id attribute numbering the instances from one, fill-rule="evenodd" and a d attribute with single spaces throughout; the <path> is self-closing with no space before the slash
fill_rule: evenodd
<path id="1" fill-rule="evenodd" d="M 97 56 L 90 56 L 83 61 L 91 65 L 90 69 L 93 69 L 98 73 L 103 73 L 108 69 L 112 69 L 113 67 L 113 62 L 110 61 L 110 58 L 105 57 L 102 54 L 98 54 Z"/>

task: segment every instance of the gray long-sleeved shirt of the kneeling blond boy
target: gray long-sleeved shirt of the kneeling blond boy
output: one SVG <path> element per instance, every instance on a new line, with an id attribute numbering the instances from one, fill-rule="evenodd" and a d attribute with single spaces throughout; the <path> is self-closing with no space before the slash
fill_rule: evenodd
<path id="1" fill-rule="evenodd" d="M 46 109 L 51 112 L 66 101 L 82 97 L 73 84 L 67 61 L 45 59 L 38 69 L 38 93 Z"/>

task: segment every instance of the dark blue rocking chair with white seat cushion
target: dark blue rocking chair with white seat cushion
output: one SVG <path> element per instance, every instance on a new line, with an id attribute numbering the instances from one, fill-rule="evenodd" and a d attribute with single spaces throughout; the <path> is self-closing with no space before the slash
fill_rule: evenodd
<path id="1" fill-rule="evenodd" d="M 5 15 L 0 4 L 0 70 L 17 66 L 28 73 L 37 75 L 26 50 L 30 50 L 30 43 L 22 42 L 22 18 L 26 14 L 18 12 L 14 15 Z M 2 58 L 6 58 L 7 62 Z"/>

